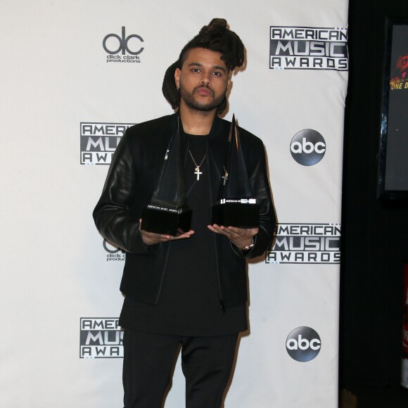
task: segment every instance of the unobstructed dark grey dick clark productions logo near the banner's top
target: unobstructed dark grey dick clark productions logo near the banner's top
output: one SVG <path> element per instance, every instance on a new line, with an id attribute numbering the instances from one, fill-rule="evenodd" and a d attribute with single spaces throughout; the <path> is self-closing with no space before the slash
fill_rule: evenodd
<path id="1" fill-rule="evenodd" d="M 107 62 L 140 63 L 139 54 L 144 50 L 143 43 L 144 39 L 138 34 L 126 36 L 126 27 L 122 27 L 122 37 L 110 33 L 103 38 L 102 46 L 109 54 Z"/>

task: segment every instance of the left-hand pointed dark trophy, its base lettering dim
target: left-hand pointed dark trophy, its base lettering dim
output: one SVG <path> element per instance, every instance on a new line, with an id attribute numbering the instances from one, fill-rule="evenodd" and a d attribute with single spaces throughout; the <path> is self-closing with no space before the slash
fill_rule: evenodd
<path id="1" fill-rule="evenodd" d="M 178 236 L 189 231 L 192 212 L 186 200 L 179 118 L 160 170 L 151 203 L 143 210 L 141 229 Z"/>

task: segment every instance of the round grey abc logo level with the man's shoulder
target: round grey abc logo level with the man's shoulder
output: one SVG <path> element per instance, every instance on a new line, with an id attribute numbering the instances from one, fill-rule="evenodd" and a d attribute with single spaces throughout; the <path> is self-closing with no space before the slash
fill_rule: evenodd
<path id="1" fill-rule="evenodd" d="M 313 129 L 303 129 L 291 141 L 292 157 L 304 166 L 318 163 L 326 152 L 326 142 L 323 136 Z"/>

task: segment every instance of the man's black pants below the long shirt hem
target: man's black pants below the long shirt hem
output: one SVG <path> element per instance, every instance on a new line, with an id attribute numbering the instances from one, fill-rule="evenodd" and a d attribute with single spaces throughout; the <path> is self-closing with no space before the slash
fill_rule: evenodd
<path id="1" fill-rule="evenodd" d="M 181 343 L 186 408 L 219 408 L 234 361 L 237 334 L 185 337 L 125 329 L 125 408 L 160 408 Z"/>

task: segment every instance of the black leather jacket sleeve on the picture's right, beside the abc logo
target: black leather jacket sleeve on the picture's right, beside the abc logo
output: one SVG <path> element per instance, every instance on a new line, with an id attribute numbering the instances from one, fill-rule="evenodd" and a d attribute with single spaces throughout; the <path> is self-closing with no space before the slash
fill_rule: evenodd
<path id="1" fill-rule="evenodd" d="M 254 246 L 250 250 L 241 251 L 231 243 L 234 252 L 245 258 L 253 258 L 262 255 L 269 248 L 274 238 L 276 226 L 276 214 L 272 202 L 271 190 L 267 177 L 267 163 L 262 142 L 262 148 L 258 151 L 259 158 L 251 174 L 248 174 L 254 198 L 260 207 L 260 231 L 254 236 Z"/>

